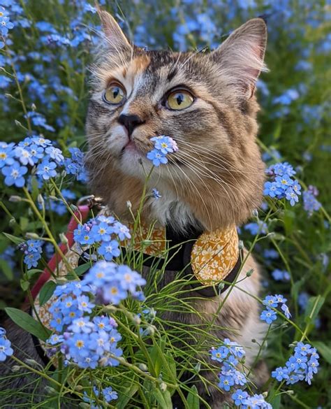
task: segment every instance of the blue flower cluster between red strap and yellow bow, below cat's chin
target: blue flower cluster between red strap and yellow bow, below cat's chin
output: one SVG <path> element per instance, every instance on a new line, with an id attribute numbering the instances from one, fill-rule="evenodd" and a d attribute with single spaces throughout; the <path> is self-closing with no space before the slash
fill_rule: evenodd
<path id="1" fill-rule="evenodd" d="M 114 217 L 98 216 L 75 229 L 73 237 L 75 242 L 82 246 L 98 245 L 98 254 L 110 261 L 121 254 L 119 241 L 131 238 L 131 234 L 128 228 Z"/>

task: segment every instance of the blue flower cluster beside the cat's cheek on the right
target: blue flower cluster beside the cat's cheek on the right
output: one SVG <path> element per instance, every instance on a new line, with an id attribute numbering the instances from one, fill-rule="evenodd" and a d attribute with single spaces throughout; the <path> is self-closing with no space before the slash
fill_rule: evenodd
<path id="1" fill-rule="evenodd" d="M 299 182 L 293 179 L 295 170 L 287 162 L 270 166 L 265 171 L 272 178 L 271 182 L 265 182 L 263 194 L 276 199 L 286 199 L 290 206 L 294 206 L 299 201 L 298 195 L 301 194 Z"/>

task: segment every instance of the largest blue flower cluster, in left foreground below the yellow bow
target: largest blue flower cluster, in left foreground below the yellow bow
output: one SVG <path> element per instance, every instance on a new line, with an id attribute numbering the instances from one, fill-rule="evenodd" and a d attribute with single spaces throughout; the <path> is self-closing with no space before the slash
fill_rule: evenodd
<path id="1" fill-rule="evenodd" d="M 115 320 L 108 316 L 93 317 L 97 305 L 119 304 L 130 294 L 142 299 L 137 287 L 145 285 L 140 274 L 128 266 L 98 261 L 83 280 L 57 286 L 49 311 L 53 334 L 47 344 L 50 352 L 60 350 L 66 360 L 80 368 L 117 366 L 122 350 L 117 347 L 121 335 Z M 92 318 L 93 317 L 93 318 Z"/>

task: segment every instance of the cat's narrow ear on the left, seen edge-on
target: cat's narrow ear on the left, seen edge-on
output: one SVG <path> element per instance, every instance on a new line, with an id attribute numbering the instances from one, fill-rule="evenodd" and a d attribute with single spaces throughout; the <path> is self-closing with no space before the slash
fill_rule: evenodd
<path id="1" fill-rule="evenodd" d="M 126 36 L 124 36 L 124 33 L 121 27 L 119 27 L 119 24 L 117 24 L 115 18 L 98 6 L 96 9 L 101 20 L 103 32 L 105 34 L 105 41 L 108 47 L 115 51 L 131 49 L 131 44 L 128 42 Z"/>

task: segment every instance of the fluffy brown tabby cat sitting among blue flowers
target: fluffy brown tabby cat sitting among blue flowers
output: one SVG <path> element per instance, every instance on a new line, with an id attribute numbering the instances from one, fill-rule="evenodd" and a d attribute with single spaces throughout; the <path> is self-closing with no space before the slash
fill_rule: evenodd
<path id="1" fill-rule="evenodd" d="M 129 210 L 134 213 L 138 209 L 145 172 L 151 167 L 146 159 L 152 149 L 150 139 L 166 135 L 179 149 L 169 157 L 168 164 L 154 169 L 149 188 L 156 187 L 162 196 L 147 199 L 142 218 L 156 220 L 159 226 L 183 238 L 192 229 L 215 231 L 246 221 L 262 201 L 264 180 L 256 144 L 255 96 L 256 80 L 266 69 L 267 29 L 263 19 L 249 20 L 212 52 L 179 53 L 136 47 L 109 13 L 98 13 L 104 41 L 91 69 L 86 125 L 92 193 L 102 196 L 119 219 L 128 220 Z M 259 268 L 249 255 L 238 280 L 251 270 L 253 275 L 233 287 L 228 297 L 225 291 L 219 296 L 193 299 L 199 315 L 168 313 L 165 319 L 200 326 L 217 314 L 214 336 L 243 345 L 246 364 L 251 365 L 265 327 L 258 319 L 258 303 L 249 295 L 258 296 L 260 291 Z M 144 268 L 142 273 L 148 277 L 149 269 Z M 166 271 L 160 288 L 175 280 L 176 274 Z M 226 303 L 218 311 L 224 297 Z M 12 322 L 5 327 L 18 358 L 28 357 L 45 366 L 29 334 Z M 253 338 L 257 342 L 252 342 Z M 36 388 L 33 381 L 38 375 L 28 375 L 22 369 L 13 376 L 14 364 L 8 359 L 0 366 L 0 388 L 34 392 L 35 402 L 43 401 L 46 382 L 39 379 Z M 254 371 L 256 384 L 263 384 L 263 364 Z M 6 380 L 5 375 L 10 378 Z M 200 396 L 211 408 L 223 408 L 228 396 L 212 386 L 217 383 L 216 372 L 204 376 L 209 380 L 207 387 L 196 382 Z M 181 408 L 177 398 L 174 407 Z M 11 404 L 15 407 L 25 399 L 24 394 L 13 396 Z M 74 407 L 73 403 L 68 407 Z"/>

